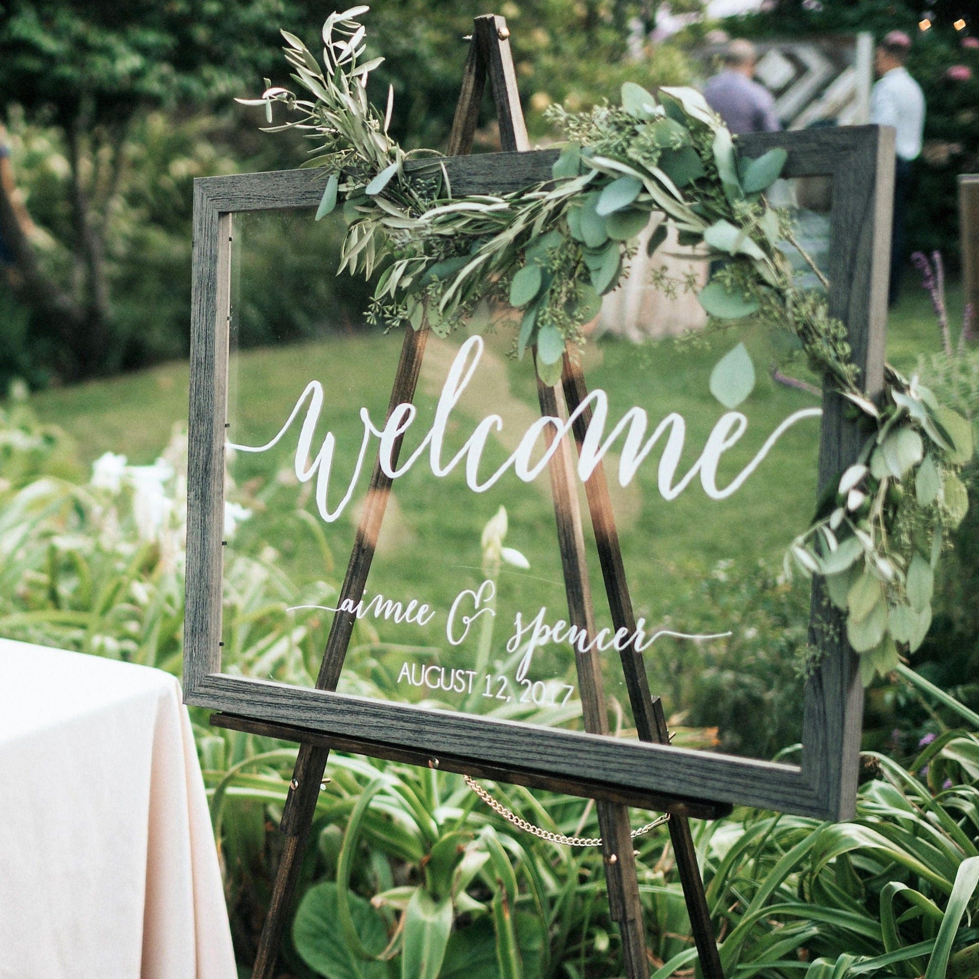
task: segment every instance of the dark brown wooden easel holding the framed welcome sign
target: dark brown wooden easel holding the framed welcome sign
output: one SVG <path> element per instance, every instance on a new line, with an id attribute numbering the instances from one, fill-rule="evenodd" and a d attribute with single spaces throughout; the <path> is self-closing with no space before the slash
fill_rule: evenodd
<path id="1" fill-rule="evenodd" d="M 471 152 L 488 77 L 499 120 L 502 148 L 510 151 L 530 149 L 508 37 L 509 30 L 503 18 L 487 15 L 476 19 L 475 30 L 470 38 L 469 57 L 463 74 L 459 103 L 448 140 L 449 156 L 464 156 Z M 417 333 L 412 330 L 405 331 L 388 409 L 389 414 L 398 404 L 410 402 L 414 397 L 427 336 L 426 330 Z M 539 379 L 537 380 L 537 397 L 543 415 L 559 417 L 562 409 L 575 411 L 586 396 L 587 390 L 581 366 L 567 353 L 564 357 L 560 385 L 549 388 Z M 590 418 L 590 409 L 586 409 L 575 422 L 573 431 L 579 450 Z M 550 447 L 554 438 L 553 432 L 548 429 L 545 438 Z M 398 439 L 392 455 L 392 468 L 396 468 L 400 445 L 401 440 Z M 549 463 L 549 473 L 568 597 L 569 624 L 586 629 L 591 636 L 595 633 L 594 612 L 584 554 L 582 514 L 575 491 L 574 462 L 568 440 L 562 440 L 557 447 Z M 391 486 L 391 479 L 375 462 L 338 606 L 348 598 L 356 604 L 363 595 Z M 615 629 L 625 628 L 631 632 L 635 629 L 635 620 L 629 585 L 626 581 L 622 550 L 601 463 L 585 483 L 585 494 L 612 621 Z M 334 617 L 316 680 L 316 686 L 320 689 L 336 689 L 354 622 L 354 617 L 349 614 L 338 613 Z M 649 692 L 642 655 L 634 648 L 628 647 L 623 650 L 621 658 L 639 738 L 660 744 L 669 743 L 670 735 L 663 707 L 659 697 L 653 697 Z M 576 662 L 585 729 L 591 733 L 607 734 L 608 715 L 605 709 L 598 653 L 592 649 L 590 654 L 576 656 Z M 282 815 L 281 830 L 285 837 L 282 857 L 253 971 L 253 979 L 272 979 L 272 970 L 278 955 L 282 932 L 289 919 L 303 861 L 303 850 L 312 825 L 330 748 L 356 751 L 359 744 L 351 739 L 323 735 L 304 728 L 258 722 L 230 715 L 214 715 L 211 723 L 300 742 L 299 757 Z M 387 747 L 374 750 L 372 753 L 379 757 L 425 764 L 417 757 L 417 753 L 406 749 Z M 443 769 L 468 770 L 473 775 L 494 777 L 494 770 L 487 766 L 465 768 L 443 766 Z M 505 777 L 506 770 L 501 770 Z M 539 779 L 537 783 L 543 784 Z M 557 779 L 547 782 L 547 786 L 557 791 L 562 789 L 562 783 Z M 663 794 L 661 804 L 671 813 L 670 837 L 693 938 L 699 953 L 701 972 L 705 979 L 723 979 L 721 957 L 714 938 L 687 815 L 716 817 L 729 812 L 729 807 L 712 803 L 698 805 L 690 800 L 676 800 L 666 792 Z M 649 961 L 630 838 L 629 809 L 626 801 L 606 798 L 596 800 L 596 811 L 602 833 L 609 908 L 612 918 L 619 925 L 626 974 L 629 979 L 646 979 L 649 975 Z"/>

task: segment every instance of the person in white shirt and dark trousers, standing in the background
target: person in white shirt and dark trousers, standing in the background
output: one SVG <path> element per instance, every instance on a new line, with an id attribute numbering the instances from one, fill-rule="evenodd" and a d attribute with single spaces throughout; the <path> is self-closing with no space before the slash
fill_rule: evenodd
<path id="1" fill-rule="evenodd" d="M 891 283 L 888 303 L 901 292 L 905 255 L 905 211 L 911 183 L 911 162 L 921 153 L 924 132 L 924 95 L 905 68 L 911 39 L 903 30 L 892 30 L 877 45 L 874 68 L 880 76 L 870 93 L 870 121 L 897 130 L 897 165 L 894 175 L 894 225 L 891 232 Z"/>

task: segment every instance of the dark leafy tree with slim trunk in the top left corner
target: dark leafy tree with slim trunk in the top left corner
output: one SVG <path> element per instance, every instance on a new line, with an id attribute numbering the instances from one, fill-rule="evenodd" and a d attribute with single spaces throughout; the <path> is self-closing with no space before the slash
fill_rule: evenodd
<path id="1" fill-rule="evenodd" d="M 0 91 L 56 126 L 69 163 L 69 267 L 39 256 L 0 190 L 10 282 L 34 328 L 58 346 L 67 378 L 98 373 L 113 344 L 107 238 L 133 120 L 153 107 L 228 102 L 278 61 L 291 0 L 12 0 L 0 26 Z"/>

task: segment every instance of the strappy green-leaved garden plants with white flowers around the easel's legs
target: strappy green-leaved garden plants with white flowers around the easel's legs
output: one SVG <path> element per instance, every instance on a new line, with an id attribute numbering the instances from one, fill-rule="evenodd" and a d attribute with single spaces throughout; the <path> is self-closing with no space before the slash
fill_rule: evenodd
<path id="1" fill-rule="evenodd" d="M 3 409 L 0 634 L 179 672 L 184 449 L 177 432 L 152 466 L 107 454 L 88 475 L 67 437 L 39 425 L 26 402 Z M 308 683 L 323 627 L 286 608 L 297 598 L 326 603 L 336 583 L 290 580 L 259 540 L 240 550 L 236 528 L 268 500 L 245 489 L 230 495 L 228 668 Z M 307 526 L 295 515 L 282 519 Z M 734 582 L 716 575 L 702 587 L 720 598 L 727 584 L 734 602 L 769 608 L 771 636 L 784 631 L 785 589 L 769 573 Z M 766 668 L 771 636 L 746 644 L 740 669 Z M 699 689 L 686 680 L 677 700 L 693 695 L 696 706 L 698 696 L 720 695 L 723 683 L 712 685 L 711 664 L 702 666 L 708 683 Z M 742 682 L 728 685 L 735 680 Z M 880 752 L 864 756 L 855 820 L 737 810 L 695 824 L 727 974 L 974 974 L 979 717 L 907 668 L 891 682 L 927 704 L 933 729 L 905 767 Z M 211 728 L 196 710 L 193 720 L 236 950 L 250 962 L 296 747 Z M 457 775 L 344 755 L 331 756 L 328 774 L 283 951 L 293 975 L 619 974 L 597 848 L 571 850 L 516 831 Z M 590 802 L 519 786 L 492 791 L 544 829 L 597 835 Z M 637 849 L 654 972 L 665 979 L 695 958 L 665 827 L 641 837 Z"/>

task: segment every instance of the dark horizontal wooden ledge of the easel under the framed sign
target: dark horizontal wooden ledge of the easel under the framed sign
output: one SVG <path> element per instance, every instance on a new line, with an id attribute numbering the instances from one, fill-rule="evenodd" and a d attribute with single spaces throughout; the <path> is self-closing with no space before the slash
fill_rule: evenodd
<path id="1" fill-rule="evenodd" d="M 389 762 L 403 765 L 416 765 L 427 768 L 437 761 L 440 771 L 452 771 L 457 774 L 472 775 L 474 778 L 489 778 L 496 782 L 511 782 L 515 785 L 526 785 L 532 789 L 544 789 L 549 792 L 561 792 L 564 795 L 578 796 L 583 799 L 602 799 L 619 803 L 624 806 L 634 806 L 638 809 L 655 810 L 659 813 L 671 813 L 678 816 L 689 816 L 692 819 L 720 819 L 729 816 L 729 803 L 702 802 L 700 800 L 677 800 L 661 793 L 633 793 L 624 790 L 619 785 L 599 785 L 597 783 L 583 785 L 570 778 L 558 778 L 553 775 L 540 775 L 535 772 L 515 769 L 504 761 L 474 762 L 471 758 L 441 753 L 438 757 L 431 752 L 416 751 L 403 744 L 390 744 L 377 738 L 361 740 L 344 734 L 324 734 L 308 727 L 298 727 L 295 724 L 279 724 L 256 718 L 243 718 L 236 714 L 223 712 L 210 715 L 210 723 L 214 727 L 226 727 L 230 730 L 245 731 L 258 734 L 261 737 L 274 737 L 283 741 L 295 741 L 297 744 L 316 745 L 330 751 L 346 751 L 352 755 L 367 755 L 370 758 L 381 758 Z"/>

